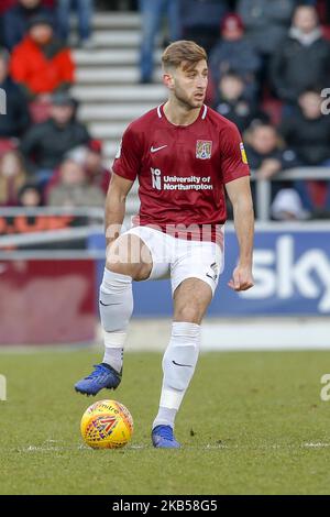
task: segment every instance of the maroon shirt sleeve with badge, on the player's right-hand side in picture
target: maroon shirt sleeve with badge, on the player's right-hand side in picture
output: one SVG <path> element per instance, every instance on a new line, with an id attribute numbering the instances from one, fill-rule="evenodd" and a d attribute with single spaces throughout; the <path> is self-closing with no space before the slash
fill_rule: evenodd
<path id="1" fill-rule="evenodd" d="M 220 139 L 223 183 L 250 176 L 246 153 L 238 128 L 234 124 L 228 125 Z"/>

